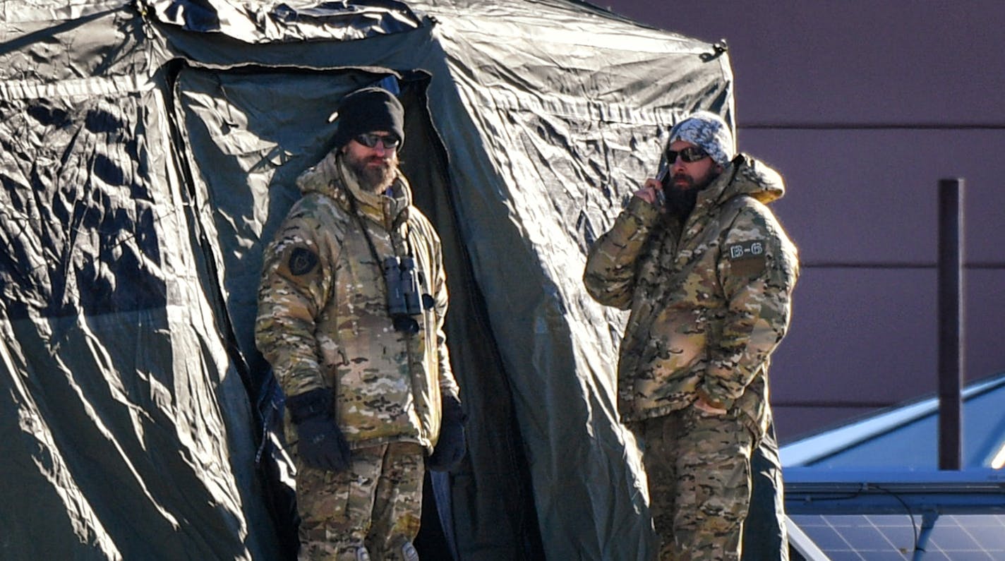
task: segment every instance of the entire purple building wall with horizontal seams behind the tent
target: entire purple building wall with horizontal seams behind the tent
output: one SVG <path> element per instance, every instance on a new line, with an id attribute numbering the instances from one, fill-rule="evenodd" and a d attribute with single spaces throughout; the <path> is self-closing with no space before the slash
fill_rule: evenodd
<path id="1" fill-rule="evenodd" d="M 786 178 L 804 268 L 771 373 L 783 441 L 937 391 L 943 178 L 966 182 L 964 376 L 1005 371 L 1005 4 L 603 5 L 726 38 L 740 149 Z"/>

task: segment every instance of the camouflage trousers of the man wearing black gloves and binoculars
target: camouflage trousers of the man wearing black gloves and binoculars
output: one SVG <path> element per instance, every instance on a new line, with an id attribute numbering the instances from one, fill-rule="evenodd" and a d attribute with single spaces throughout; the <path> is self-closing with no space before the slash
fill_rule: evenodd
<path id="1" fill-rule="evenodd" d="M 423 448 L 393 442 L 353 450 L 349 470 L 297 461 L 299 561 L 418 561 Z"/>

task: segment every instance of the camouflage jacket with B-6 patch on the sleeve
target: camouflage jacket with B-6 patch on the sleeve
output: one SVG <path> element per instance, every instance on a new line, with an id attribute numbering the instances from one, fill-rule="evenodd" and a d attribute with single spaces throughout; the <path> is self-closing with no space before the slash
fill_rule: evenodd
<path id="1" fill-rule="evenodd" d="M 701 394 L 762 435 L 768 365 L 789 326 L 796 248 L 766 203 L 782 177 L 739 156 L 681 224 L 632 197 L 590 248 L 584 283 L 631 310 L 618 360 L 623 420 L 664 415 Z"/>

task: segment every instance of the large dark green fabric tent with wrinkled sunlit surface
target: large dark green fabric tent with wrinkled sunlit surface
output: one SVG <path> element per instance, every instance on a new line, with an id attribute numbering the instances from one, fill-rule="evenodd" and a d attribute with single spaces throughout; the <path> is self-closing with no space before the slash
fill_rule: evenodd
<path id="1" fill-rule="evenodd" d="M 0 558 L 281 558 L 260 255 L 372 83 L 445 243 L 459 557 L 651 555 L 580 276 L 667 127 L 732 122 L 722 49 L 574 1 L 24 0 L 0 76 Z"/>

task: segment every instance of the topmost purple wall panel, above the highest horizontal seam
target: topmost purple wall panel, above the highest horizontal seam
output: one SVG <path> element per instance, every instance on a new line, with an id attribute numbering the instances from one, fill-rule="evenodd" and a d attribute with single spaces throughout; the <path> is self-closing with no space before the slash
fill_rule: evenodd
<path id="1" fill-rule="evenodd" d="M 726 38 L 741 125 L 1005 125 L 998 0 L 604 5 L 690 37 Z"/>

